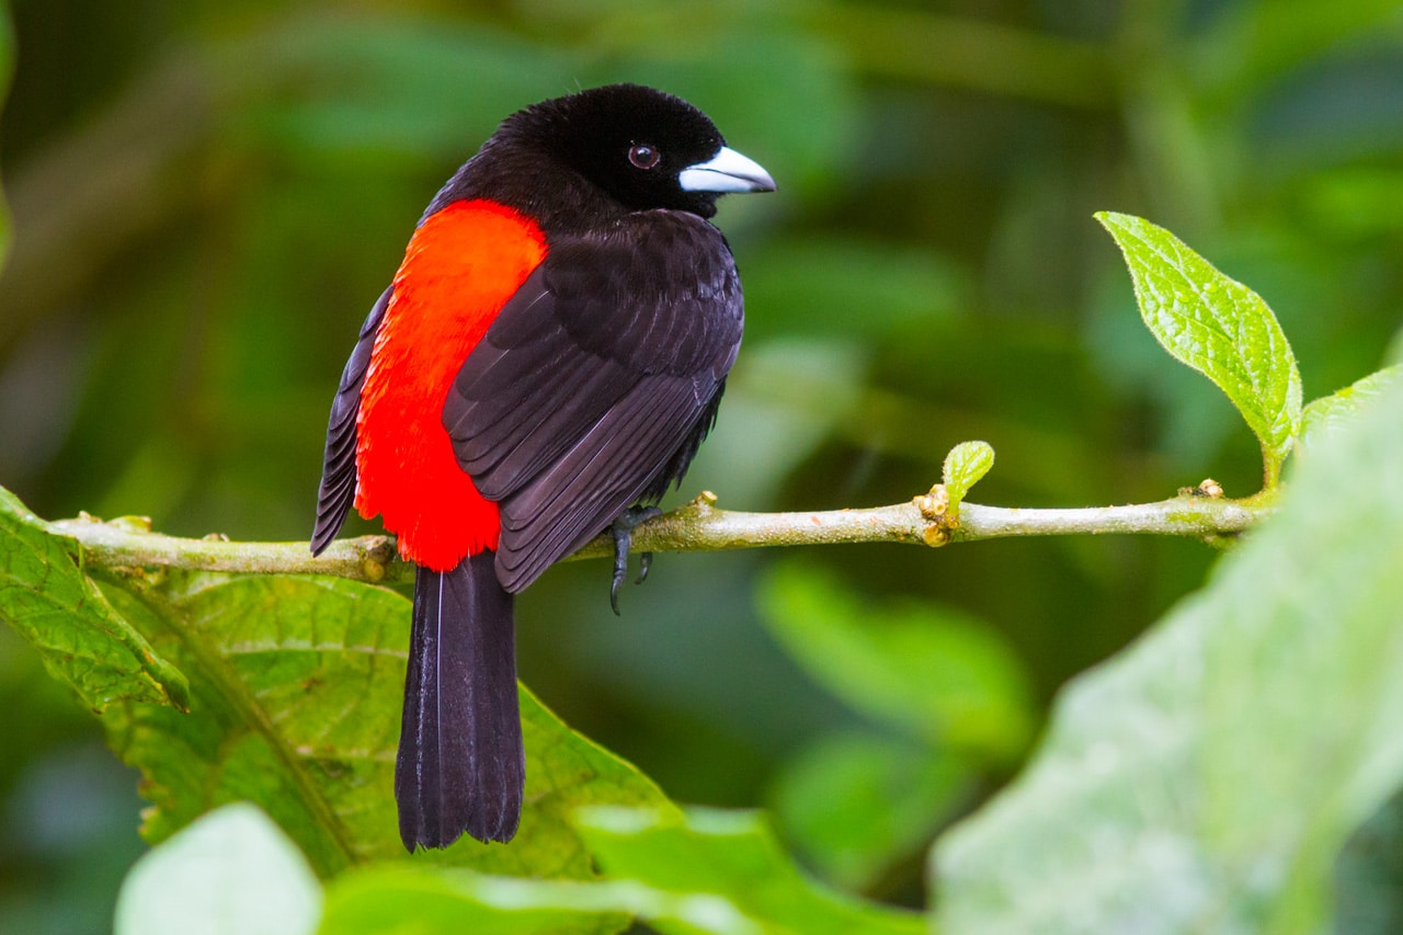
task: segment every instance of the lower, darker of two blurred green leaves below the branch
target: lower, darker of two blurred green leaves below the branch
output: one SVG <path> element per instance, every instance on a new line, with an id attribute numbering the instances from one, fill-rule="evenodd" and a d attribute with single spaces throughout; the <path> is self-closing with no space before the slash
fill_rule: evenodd
<path id="1" fill-rule="evenodd" d="M 840 733 L 786 760 L 772 804 L 807 865 L 845 890 L 868 891 L 925 849 L 976 779 L 961 757 Z"/>

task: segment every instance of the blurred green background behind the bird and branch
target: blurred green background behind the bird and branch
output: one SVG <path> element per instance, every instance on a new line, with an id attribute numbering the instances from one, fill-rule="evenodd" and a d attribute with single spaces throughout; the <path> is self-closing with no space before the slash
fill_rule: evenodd
<path id="1" fill-rule="evenodd" d="M 10 13 L 0 484 L 49 518 L 309 535 L 331 393 L 422 206 L 511 111 L 616 80 L 692 100 L 780 184 L 723 202 L 748 333 L 683 497 L 904 501 L 968 438 L 999 455 L 981 503 L 1254 491 L 1250 434 L 1143 330 L 1097 209 L 1257 289 L 1308 399 L 1403 355 L 1396 0 Z M 622 619 L 575 563 L 519 602 L 521 672 L 675 799 L 773 809 L 821 876 L 919 903 L 926 842 L 1017 768 L 1058 685 L 1212 560 L 668 555 Z M 4 629 L 0 708 L 0 931 L 104 931 L 136 778 Z"/>

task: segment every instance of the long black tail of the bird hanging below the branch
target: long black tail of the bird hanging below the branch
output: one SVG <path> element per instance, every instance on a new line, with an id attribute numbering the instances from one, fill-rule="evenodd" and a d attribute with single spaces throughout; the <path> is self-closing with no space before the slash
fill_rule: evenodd
<path id="1" fill-rule="evenodd" d="M 452 571 L 421 567 L 394 767 L 404 847 L 445 848 L 464 831 L 511 841 L 522 813 L 526 758 L 516 702 L 512 595 L 495 555 Z"/>

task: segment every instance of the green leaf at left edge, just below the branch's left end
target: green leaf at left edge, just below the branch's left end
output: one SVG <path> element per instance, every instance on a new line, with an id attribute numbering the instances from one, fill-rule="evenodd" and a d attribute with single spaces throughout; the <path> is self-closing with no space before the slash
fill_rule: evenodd
<path id="1" fill-rule="evenodd" d="M 0 619 L 27 639 L 84 705 L 121 701 L 184 708 L 185 677 L 156 654 L 83 574 L 79 545 L 55 535 L 0 487 Z"/>

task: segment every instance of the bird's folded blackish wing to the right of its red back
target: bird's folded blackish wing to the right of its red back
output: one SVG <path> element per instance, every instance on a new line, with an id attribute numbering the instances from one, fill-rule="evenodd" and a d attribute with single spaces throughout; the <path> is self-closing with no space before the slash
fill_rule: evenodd
<path id="1" fill-rule="evenodd" d="M 501 508 L 504 587 L 526 587 L 680 477 L 741 329 L 730 250 L 700 219 L 648 212 L 551 243 L 443 407 L 459 465 Z"/>

